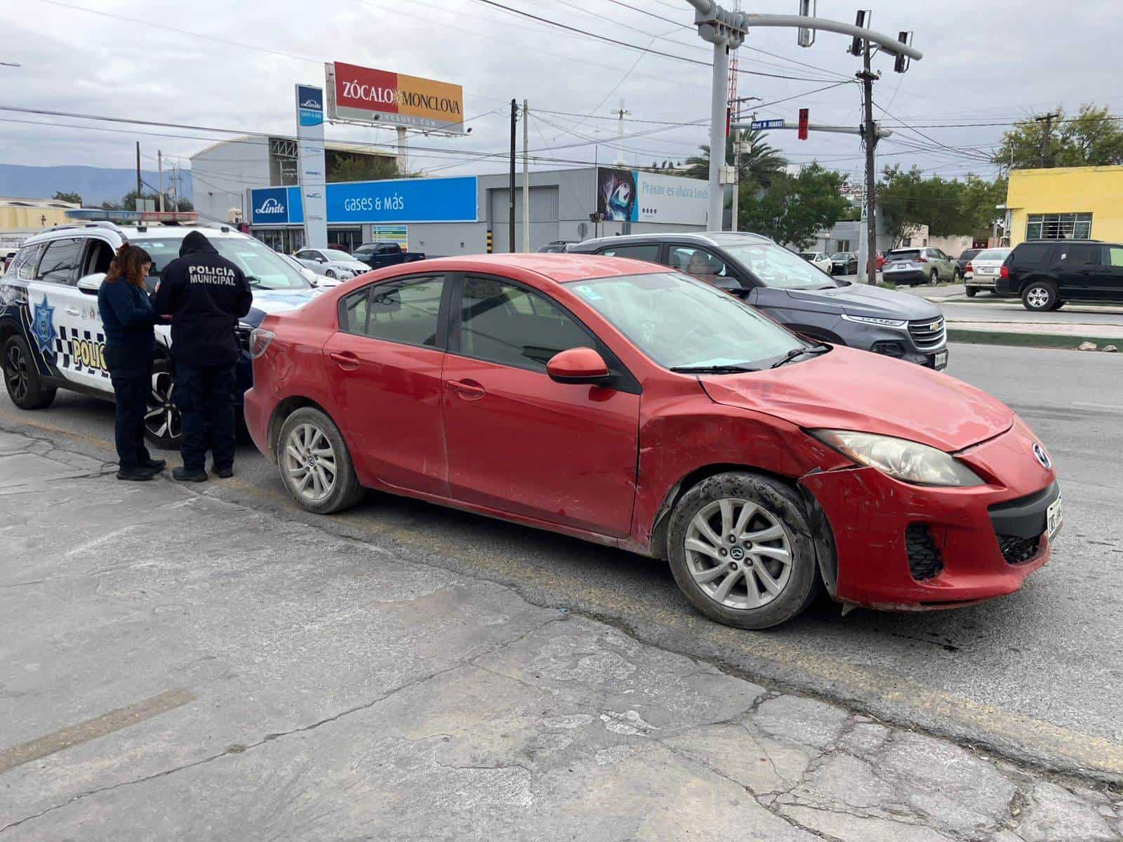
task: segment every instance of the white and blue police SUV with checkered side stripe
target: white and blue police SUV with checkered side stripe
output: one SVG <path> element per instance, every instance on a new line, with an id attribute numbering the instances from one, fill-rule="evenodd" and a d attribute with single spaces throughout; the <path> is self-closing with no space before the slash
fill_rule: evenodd
<path id="1" fill-rule="evenodd" d="M 239 403 L 253 384 L 249 332 L 267 313 L 302 306 L 317 294 L 299 269 L 264 242 L 228 226 L 199 226 L 194 213 L 75 210 L 67 216 L 74 221 L 27 238 L 0 277 L 4 385 L 12 403 L 25 410 L 48 406 L 60 388 L 112 400 L 98 289 L 122 242 L 152 255 L 149 291 L 192 230 L 204 234 L 245 273 L 254 305 L 237 327 Z M 145 434 L 164 449 L 177 448 L 183 434 L 172 402 L 171 345 L 171 328 L 157 324 Z"/>

